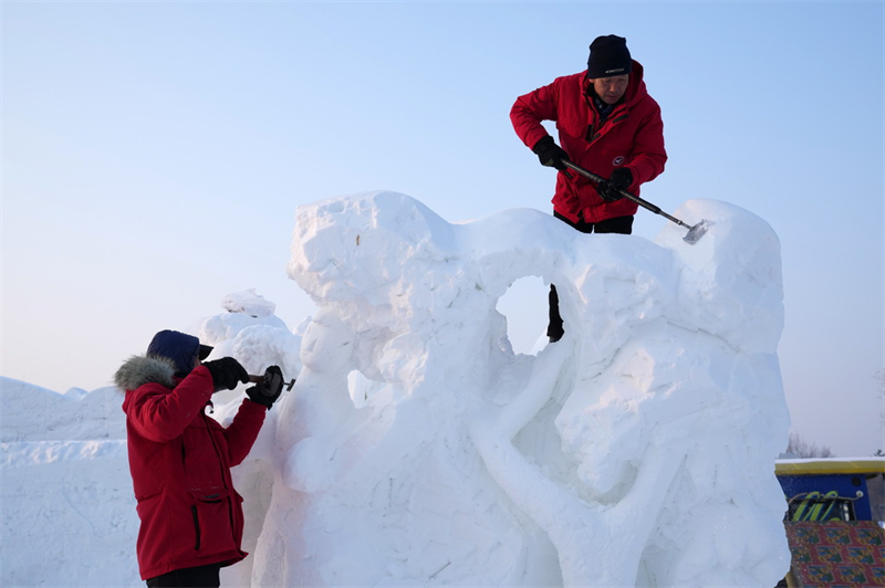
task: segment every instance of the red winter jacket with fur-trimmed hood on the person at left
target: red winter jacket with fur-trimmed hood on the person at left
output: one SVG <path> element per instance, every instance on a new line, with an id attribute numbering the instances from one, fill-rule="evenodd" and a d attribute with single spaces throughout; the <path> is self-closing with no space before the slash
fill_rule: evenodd
<path id="1" fill-rule="evenodd" d="M 135 498 L 142 579 L 176 569 L 236 564 L 243 528 L 242 497 L 230 468 L 246 459 L 267 409 L 243 400 L 225 429 L 204 409 L 212 376 L 197 367 L 186 378 L 156 357 L 136 356 L 117 371 Z"/>

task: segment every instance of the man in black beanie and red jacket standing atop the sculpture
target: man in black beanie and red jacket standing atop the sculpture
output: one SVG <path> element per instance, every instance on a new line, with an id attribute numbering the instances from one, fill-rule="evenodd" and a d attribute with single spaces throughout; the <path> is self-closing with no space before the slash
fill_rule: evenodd
<path id="1" fill-rule="evenodd" d="M 559 169 L 553 214 L 584 233 L 633 230 L 638 208 L 618 189 L 639 195 L 639 186 L 664 171 L 664 123 L 660 107 L 648 95 L 643 66 L 631 57 L 627 41 L 614 34 L 590 45 L 584 72 L 558 77 L 552 84 L 517 98 L 510 111 L 517 135 L 541 164 Z M 556 145 L 542 120 L 555 120 Z M 570 172 L 570 160 L 608 178 L 600 185 Z M 551 340 L 562 337 L 555 287 L 550 291 Z"/>

